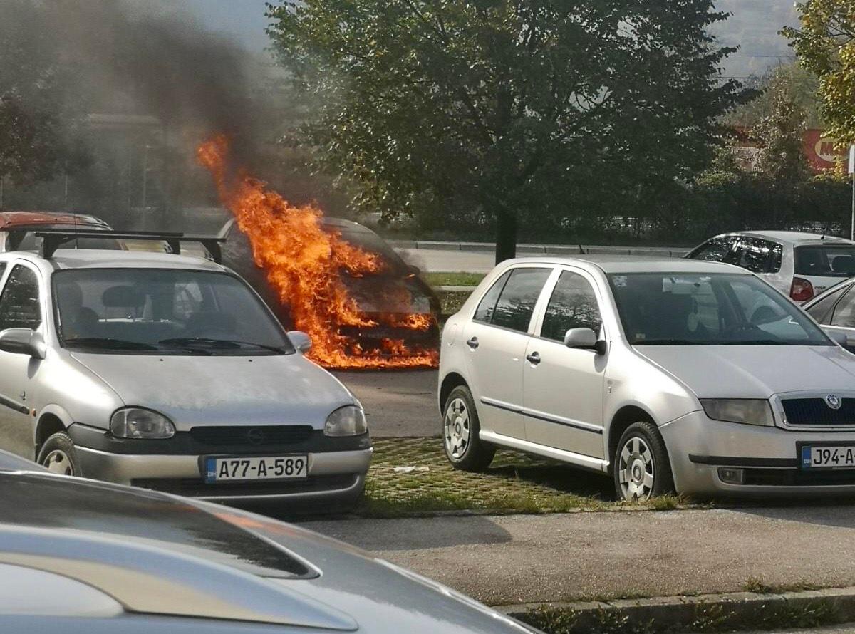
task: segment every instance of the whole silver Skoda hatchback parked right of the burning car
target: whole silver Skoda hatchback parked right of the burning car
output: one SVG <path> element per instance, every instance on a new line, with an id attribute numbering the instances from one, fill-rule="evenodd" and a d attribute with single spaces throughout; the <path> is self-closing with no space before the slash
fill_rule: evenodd
<path id="1" fill-rule="evenodd" d="M 461 469 L 509 447 L 626 500 L 855 490 L 855 355 L 727 264 L 504 262 L 445 325 L 439 408 Z"/>

